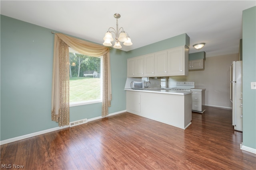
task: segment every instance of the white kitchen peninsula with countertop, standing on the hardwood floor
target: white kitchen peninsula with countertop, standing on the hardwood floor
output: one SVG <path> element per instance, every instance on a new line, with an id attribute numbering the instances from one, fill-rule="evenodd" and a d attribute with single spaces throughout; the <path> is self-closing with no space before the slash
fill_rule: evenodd
<path id="1" fill-rule="evenodd" d="M 192 120 L 192 92 L 125 89 L 126 111 L 186 129 Z"/>

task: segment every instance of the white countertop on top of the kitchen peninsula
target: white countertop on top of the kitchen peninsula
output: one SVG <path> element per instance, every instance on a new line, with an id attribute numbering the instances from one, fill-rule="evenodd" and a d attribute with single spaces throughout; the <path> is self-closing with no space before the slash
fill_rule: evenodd
<path id="1" fill-rule="evenodd" d="M 165 90 L 165 89 L 142 89 L 134 90 L 132 88 L 126 88 L 124 90 L 136 91 L 136 92 L 150 92 L 150 93 L 164 93 L 164 94 L 176 94 L 176 95 L 186 95 L 191 94 L 189 91 L 176 91 L 176 90 Z"/>

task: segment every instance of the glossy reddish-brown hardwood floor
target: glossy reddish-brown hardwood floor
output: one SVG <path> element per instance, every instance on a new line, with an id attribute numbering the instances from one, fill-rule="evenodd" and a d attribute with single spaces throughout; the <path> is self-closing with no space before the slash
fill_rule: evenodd
<path id="1" fill-rule="evenodd" d="M 192 112 L 186 130 L 126 112 L 1 145 L 1 169 L 255 170 L 241 142 L 230 109 Z"/>

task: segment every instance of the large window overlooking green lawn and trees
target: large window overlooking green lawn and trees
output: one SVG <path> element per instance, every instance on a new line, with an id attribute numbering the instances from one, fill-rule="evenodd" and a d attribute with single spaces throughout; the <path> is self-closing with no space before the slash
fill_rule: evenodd
<path id="1" fill-rule="evenodd" d="M 91 57 L 69 49 L 70 107 L 102 102 L 102 56 Z"/>

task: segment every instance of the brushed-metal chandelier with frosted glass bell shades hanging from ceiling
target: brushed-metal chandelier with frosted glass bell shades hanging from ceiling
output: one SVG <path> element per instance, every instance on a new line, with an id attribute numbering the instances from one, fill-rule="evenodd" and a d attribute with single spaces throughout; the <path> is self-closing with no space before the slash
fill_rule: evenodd
<path id="1" fill-rule="evenodd" d="M 114 18 L 116 18 L 116 29 L 114 29 L 113 27 L 110 27 L 108 29 L 108 31 L 105 34 L 105 37 L 103 38 L 103 40 L 104 40 L 103 45 L 108 46 L 108 47 L 112 46 L 111 42 L 114 41 L 114 39 L 112 37 L 112 33 L 114 33 L 116 36 L 115 37 L 116 42 L 114 45 L 115 49 L 122 48 L 120 42 L 124 42 L 123 44 L 126 46 L 132 45 L 132 41 L 131 41 L 130 37 L 128 36 L 128 33 L 126 33 L 124 31 L 124 28 L 120 27 L 120 29 L 118 29 L 118 18 L 120 18 L 120 17 L 121 17 L 121 15 L 118 13 L 114 14 Z"/>

